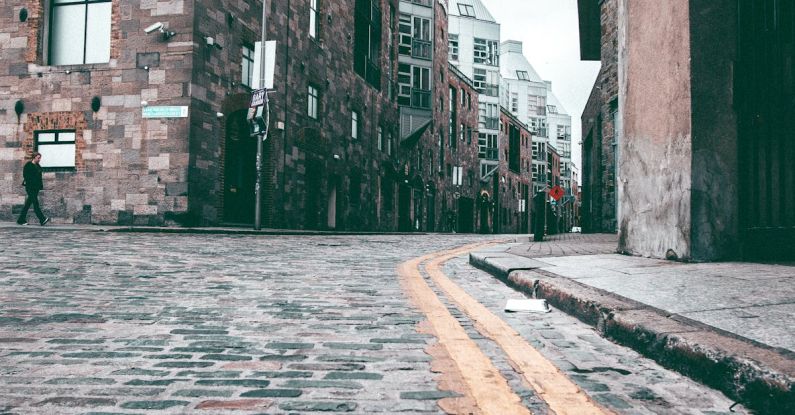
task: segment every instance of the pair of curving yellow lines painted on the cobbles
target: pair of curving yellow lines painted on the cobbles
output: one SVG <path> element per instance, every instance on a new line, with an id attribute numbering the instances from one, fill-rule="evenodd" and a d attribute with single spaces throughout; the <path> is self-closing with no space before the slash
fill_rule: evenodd
<path id="1" fill-rule="evenodd" d="M 469 296 L 441 271 L 441 265 L 451 258 L 487 245 L 467 245 L 450 251 L 437 252 L 406 261 L 398 266 L 398 274 L 405 291 L 425 314 L 439 344 L 455 362 L 469 393 L 468 396 L 484 414 L 531 413 L 522 405 L 521 399 L 508 385 L 508 381 L 469 338 L 464 328 L 425 282 L 420 273 L 420 266 L 423 263 L 433 283 L 475 323 L 475 328 L 483 336 L 503 349 L 514 369 L 523 376 L 527 384 L 551 410 L 558 415 L 610 413 L 593 402 L 506 322 Z"/>

